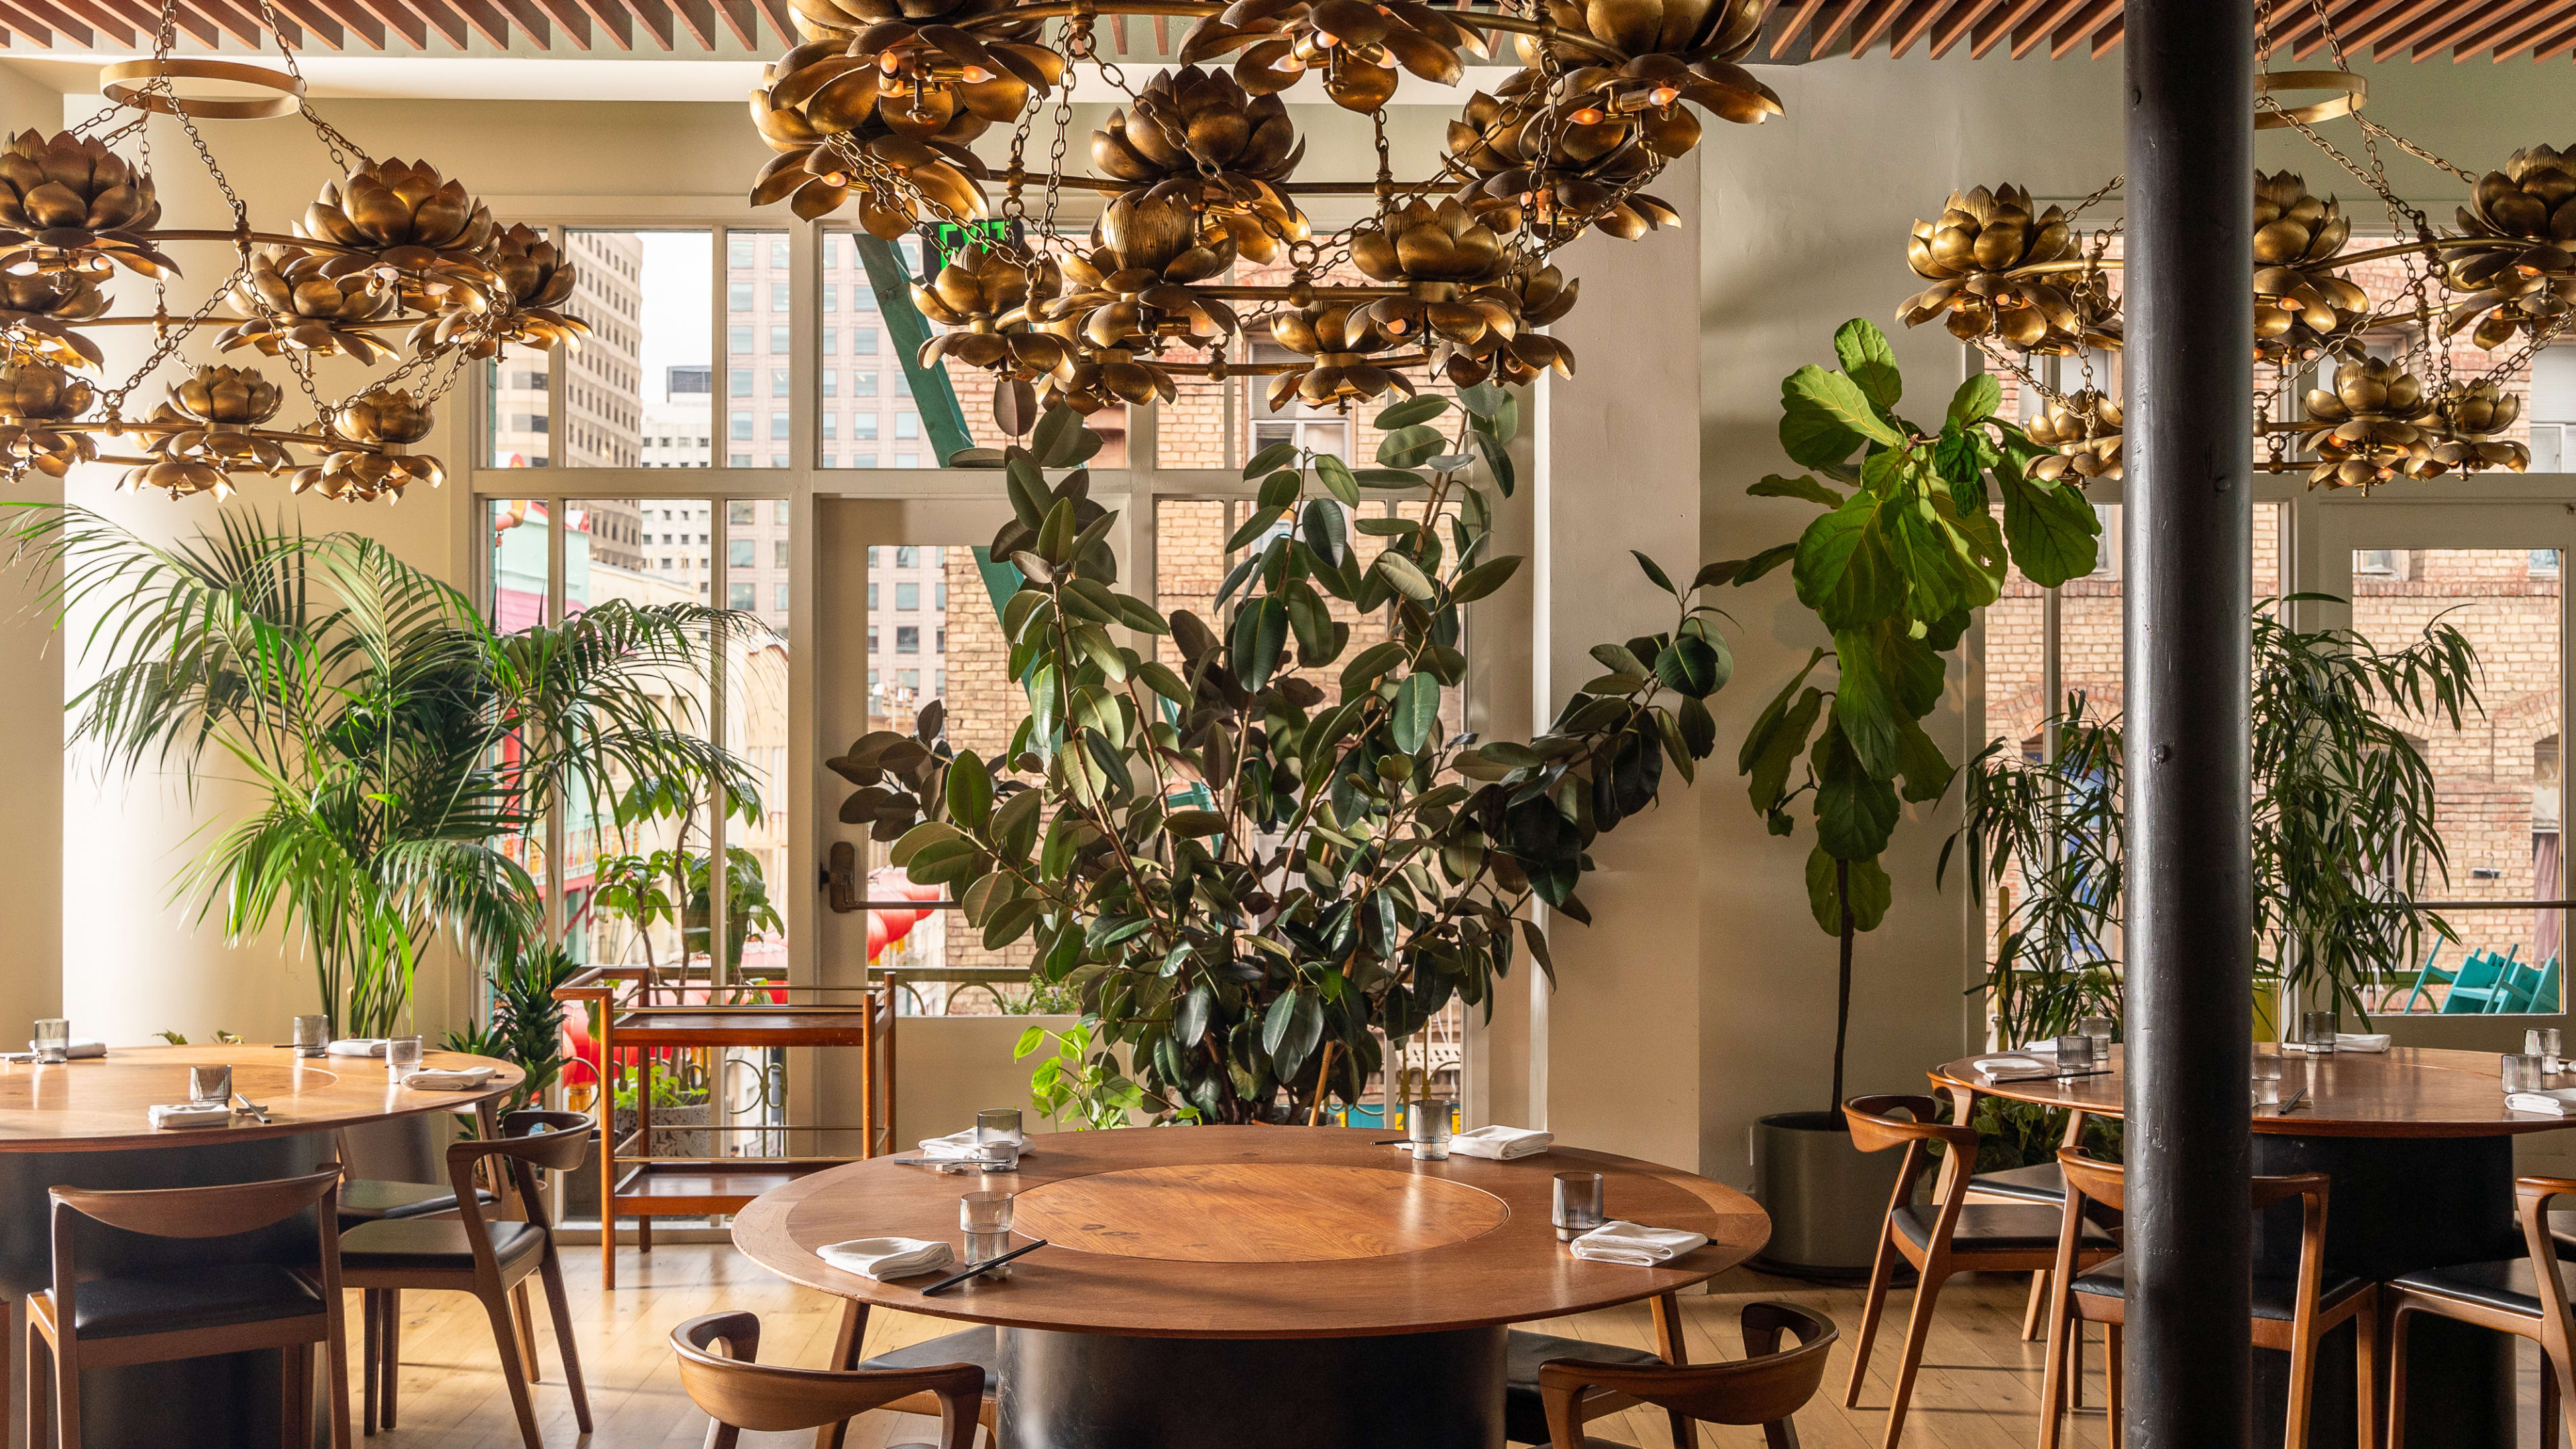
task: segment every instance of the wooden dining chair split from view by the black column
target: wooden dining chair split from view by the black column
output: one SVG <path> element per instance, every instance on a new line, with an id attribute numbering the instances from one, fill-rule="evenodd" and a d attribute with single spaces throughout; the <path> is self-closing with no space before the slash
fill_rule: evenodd
<path id="1" fill-rule="evenodd" d="M 2066 1171 L 2066 1214 L 2058 1225 L 2056 1289 L 2048 1302 L 2048 1369 L 2040 1377 L 2040 1449 L 2058 1449 L 2066 1390 L 2084 1372 L 2084 1323 L 2099 1323 L 2110 1390 L 2110 1441 L 2120 1444 L 2120 1325 L 2128 1320 L 2128 1279 L 2117 1258 L 2089 1271 L 2074 1269 L 2084 1204 L 2125 1207 L 2125 1173 L 2115 1163 L 2058 1147 Z M 2254 1212 L 2298 1199 L 2298 1271 L 2254 1274 L 2254 1346 L 2290 1354 L 2290 1413 L 2285 1449 L 2306 1449 L 2316 1397 L 2316 1346 L 2352 1320 L 2360 1385 L 2360 1446 L 2378 1444 L 2378 1312 L 2370 1284 L 2326 1266 L 2326 1173 L 2254 1178 Z"/>

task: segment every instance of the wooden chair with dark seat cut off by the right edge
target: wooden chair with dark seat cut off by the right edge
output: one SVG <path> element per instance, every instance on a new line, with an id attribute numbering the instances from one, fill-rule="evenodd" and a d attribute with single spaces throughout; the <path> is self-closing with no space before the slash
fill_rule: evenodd
<path id="1" fill-rule="evenodd" d="M 2576 1287 L 2550 1235 L 2550 1201 L 2576 1194 L 2576 1178 L 2514 1178 L 2514 1217 L 2530 1256 L 2421 1269 L 2380 1287 L 2388 1318 L 2388 1449 L 2406 1449 L 2406 1320 L 2452 1318 L 2540 1343 L 2540 1441 L 2558 1431 L 2576 1444 L 2576 1385 L 2568 1364 L 2568 1289 Z"/>

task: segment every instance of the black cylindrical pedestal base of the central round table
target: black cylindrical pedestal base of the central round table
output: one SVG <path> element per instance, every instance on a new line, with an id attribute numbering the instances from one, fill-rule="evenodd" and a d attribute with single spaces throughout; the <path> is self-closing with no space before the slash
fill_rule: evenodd
<path id="1" fill-rule="evenodd" d="M 1502 1328 L 1383 1338 L 1002 1330 L 1012 1449 L 1502 1449 Z"/>

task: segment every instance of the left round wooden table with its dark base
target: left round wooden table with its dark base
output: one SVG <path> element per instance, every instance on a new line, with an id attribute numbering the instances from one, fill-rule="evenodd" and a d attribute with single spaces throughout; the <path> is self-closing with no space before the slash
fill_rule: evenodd
<path id="1" fill-rule="evenodd" d="M 188 1101 L 188 1067 L 232 1065 L 232 1085 L 268 1122 L 155 1129 L 147 1109 Z M 52 1281 L 49 1186 L 175 1189 L 309 1173 L 337 1160 L 332 1132 L 471 1106 L 489 1116 L 523 1073 L 489 1057 L 430 1052 L 428 1067 L 495 1067 L 471 1091 L 412 1091 L 381 1057 L 296 1057 L 283 1047 L 113 1047 L 62 1065 L 0 1062 L 0 1292 Z M 222 1240 L 139 1238 L 80 1225 L 80 1263 L 100 1274 L 185 1274 L 211 1261 L 309 1263 L 309 1217 Z M 26 1369 L 23 1356 L 13 1372 Z M 98 1446 L 278 1441 L 278 1354 L 229 1354 L 134 1369 L 85 1369 L 82 1441 Z"/>

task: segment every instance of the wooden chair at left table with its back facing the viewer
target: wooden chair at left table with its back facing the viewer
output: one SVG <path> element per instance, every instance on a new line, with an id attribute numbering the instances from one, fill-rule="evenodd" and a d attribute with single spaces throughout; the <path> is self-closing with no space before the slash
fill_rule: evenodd
<path id="1" fill-rule="evenodd" d="M 299 1178 L 206 1189 L 46 1189 L 54 1201 L 54 1284 L 26 1299 L 26 1441 L 80 1449 L 80 1372 L 278 1348 L 281 1441 L 309 1449 L 314 1348 L 330 1382 L 330 1444 L 348 1449 L 348 1336 L 332 1199 L 340 1163 Z M 80 1276 L 77 1220 L 147 1238 L 232 1238 L 314 1212 L 317 1266 L 191 1263 L 131 1276 Z M 52 1400 L 52 1403 L 49 1403 Z"/>

